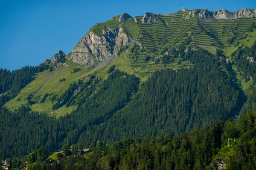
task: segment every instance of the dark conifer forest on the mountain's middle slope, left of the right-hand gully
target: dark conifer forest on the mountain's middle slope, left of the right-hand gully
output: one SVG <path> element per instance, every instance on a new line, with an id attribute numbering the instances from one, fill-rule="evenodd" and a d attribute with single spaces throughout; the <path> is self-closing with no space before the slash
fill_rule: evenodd
<path id="1" fill-rule="evenodd" d="M 65 143 L 89 146 L 98 140 L 112 143 L 135 136 L 178 135 L 232 117 L 240 103 L 239 90 L 214 56 L 199 48 L 189 50 L 184 59 L 193 67 L 157 71 L 140 88 L 140 79 L 119 70 L 106 80 L 92 76 L 80 82 L 79 92 L 91 96 L 79 99 L 75 111 L 58 119 L 31 112 L 29 105 L 14 113 L 1 108 L 0 155 L 21 157 L 42 145 L 52 152 Z M 55 107 L 72 105 L 77 99 L 72 91 L 78 84 L 71 84 Z"/>

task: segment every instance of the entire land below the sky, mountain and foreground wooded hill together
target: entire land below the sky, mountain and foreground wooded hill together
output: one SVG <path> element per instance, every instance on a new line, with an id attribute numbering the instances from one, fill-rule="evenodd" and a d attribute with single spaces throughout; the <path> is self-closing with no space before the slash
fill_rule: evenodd
<path id="1" fill-rule="evenodd" d="M 256 169 L 256 9 L 95 26 L 38 66 L 0 68 L 9 170 Z"/>

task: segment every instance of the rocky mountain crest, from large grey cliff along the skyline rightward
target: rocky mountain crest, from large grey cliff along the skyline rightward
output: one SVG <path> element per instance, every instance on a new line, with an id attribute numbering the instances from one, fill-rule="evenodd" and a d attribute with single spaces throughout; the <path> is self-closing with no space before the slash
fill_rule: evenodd
<path id="1" fill-rule="evenodd" d="M 241 8 L 236 12 L 230 12 L 226 9 L 209 11 L 208 9 L 189 10 L 186 8 L 182 8 L 180 11 L 183 12 L 180 21 L 192 18 L 202 20 L 236 20 L 239 18 L 256 18 L 256 9 L 253 10 L 249 8 Z M 136 28 L 134 23 L 136 23 L 137 27 L 140 27 L 140 24 L 157 24 L 160 22 L 167 26 L 169 23 L 166 23 L 163 18 L 168 15 L 176 16 L 178 12 L 167 15 L 145 12 L 142 18 L 138 16 L 131 17 L 129 14 L 123 13 L 116 17 L 112 17 L 104 23 L 96 23 L 96 25 L 90 28 L 87 34 L 84 35 L 84 37 L 66 57 L 73 62 L 85 66 L 104 61 L 113 54 L 117 55 L 121 46 L 128 46 L 134 42 L 137 44 L 142 43 L 140 37 L 143 36 L 143 29 L 139 28 L 139 33 L 135 34 L 135 36 L 131 36 L 130 34 L 134 31 L 133 29 Z M 172 22 L 176 22 L 175 17 L 172 18 Z M 127 30 L 125 26 L 130 27 L 131 30 L 124 31 Z"/>

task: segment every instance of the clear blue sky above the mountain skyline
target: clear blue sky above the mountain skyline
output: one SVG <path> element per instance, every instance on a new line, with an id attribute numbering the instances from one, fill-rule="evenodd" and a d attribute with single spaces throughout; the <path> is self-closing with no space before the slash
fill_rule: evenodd
<path id="1" fill-rule="evenodd" d="M 0 68 L 38 65 L 59 49 L 68 54 L 95 23 L 124 12 L 170 14 L 182 7 L 256 8 L 256 0 L 0 0 Z"/>

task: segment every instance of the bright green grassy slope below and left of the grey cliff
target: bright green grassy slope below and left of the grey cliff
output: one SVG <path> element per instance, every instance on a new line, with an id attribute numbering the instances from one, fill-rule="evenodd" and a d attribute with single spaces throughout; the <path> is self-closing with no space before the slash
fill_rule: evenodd
<path id="1" fill-rule="evenodd" d="M 71 73 L 73 69 L 81 68 L 81 71 L 76 73 Z M 28 102 L 27 97 L 29 94 L 40 89 L 35 96 L 33 96 L 32 101 L 35 104 L 31 105 L 33 111 L 45 111 L 47 113 L 52 113 L 53 115 L 59 116 L 60 113 L 70 113 L 73 108 L 60 108 L 57 111 L 52 111 L 52 103 L 50 101 L 50 97 L 56 95 L 61 96 L 62 93 L 68 88 L 70 83 L 77 82 L 78 79 L 87 79 L 88 74 L 91 73 L 93 68 L 90 69 L 82 69 L 84 66 L 76 64 L 72 61 L 67 60 L 65 63 L 60 63 L 58 65 L 58 69 L 50 72 L 44 71 L 37 75 L 35 75 L 35 79 L 29 83 L 25 88 L 23 88 L 20 93 L 12 100 L 6 103 L 6 107 L 13 110 L 20 105 L 26 104 Z M 60 79 L 65 78 L 65 81 L 60 82 Z M 40 103 L 44 94 L 49 94 L 46 101 L 44 103 Z"/>

